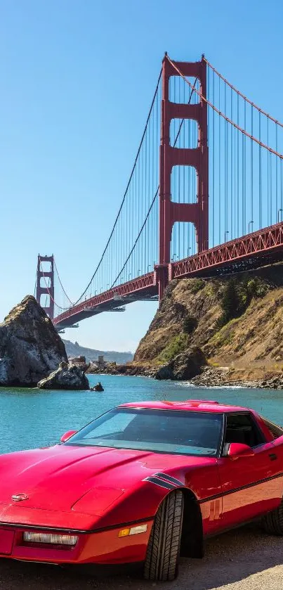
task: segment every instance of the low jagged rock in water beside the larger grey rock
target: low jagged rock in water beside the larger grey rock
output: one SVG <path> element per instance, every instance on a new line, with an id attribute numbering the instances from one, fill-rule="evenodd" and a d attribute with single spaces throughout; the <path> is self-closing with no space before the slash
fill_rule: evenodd
<path id="1" fill-rule="evenodd" d="M 79 366 L 60 363 L 58 369 L 37 384 L 46 390 L 89 390 L 88 379 Z"/>

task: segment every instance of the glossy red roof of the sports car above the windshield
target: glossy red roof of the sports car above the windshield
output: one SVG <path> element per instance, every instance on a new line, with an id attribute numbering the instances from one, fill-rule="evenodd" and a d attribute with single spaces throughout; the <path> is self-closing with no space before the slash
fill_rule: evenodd
<path id="1" fill-rule="evenodd" d="M 129 402 L 127 404 L 120 404 L 119 408 L 183 410 L 211 413 L 234 413 L 241 411 L 250 411 L 248 408 L 244 408 L 242 406 L 230 406 L 228 404 L 220 404 L 219 402 L 214 402 L 208 399 L 185 399 L 184 402 Z"/>

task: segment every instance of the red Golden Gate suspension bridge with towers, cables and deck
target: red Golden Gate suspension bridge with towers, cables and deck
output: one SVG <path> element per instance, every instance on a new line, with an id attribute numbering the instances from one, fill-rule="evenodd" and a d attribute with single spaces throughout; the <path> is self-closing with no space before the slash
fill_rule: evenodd
<path id="1" fill-rule="evenodd" d="M 165 54 L 121 206 L 91 280 L 72 301 L 54 256 L 39 255 L 37 301 L 62 331 L 101 312 L 124 311 L 131 302 L 160 301 L 173 279 L 281 260 L 282 160 L 282 123 L 204 56 L 179 62 Z"/>

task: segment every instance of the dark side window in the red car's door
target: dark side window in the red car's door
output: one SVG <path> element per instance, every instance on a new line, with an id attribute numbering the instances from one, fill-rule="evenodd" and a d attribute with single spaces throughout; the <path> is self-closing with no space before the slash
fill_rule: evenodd
<path id="1" fill-rule="evenodd" d="M 258 444 L 265 442 L 263 433 L 254 422 L 251 414 L 238 413 L 227 415 L 224 443 L 230 444 L 231 442 L 248 444 L 249 447 L 257 447 Z"/>

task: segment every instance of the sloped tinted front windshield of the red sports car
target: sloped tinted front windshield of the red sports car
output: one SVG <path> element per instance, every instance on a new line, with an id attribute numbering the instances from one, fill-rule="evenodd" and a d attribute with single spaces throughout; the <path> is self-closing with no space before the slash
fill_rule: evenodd
<path id="1" fill-rule="evenodd" d="M 65 444 L 216 456 L 222 428 L 220 413 L 116 408 Z"/>

